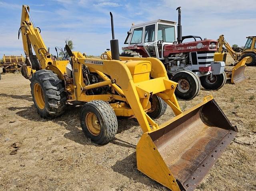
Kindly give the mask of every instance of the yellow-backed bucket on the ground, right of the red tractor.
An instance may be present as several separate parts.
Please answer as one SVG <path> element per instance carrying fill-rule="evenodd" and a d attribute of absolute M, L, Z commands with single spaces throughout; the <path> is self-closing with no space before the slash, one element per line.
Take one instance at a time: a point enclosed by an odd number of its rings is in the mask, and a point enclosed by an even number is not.
<path fill-rule="evenodd" d="M 232 70 L 225 70 L 227 77 L 231 78 L 231 83 L 236 84 L 246 79 L 244 75 L 244 69 L 246 68 L 246 60 L 248 57 L 244 57 L 240 60 Z"/>

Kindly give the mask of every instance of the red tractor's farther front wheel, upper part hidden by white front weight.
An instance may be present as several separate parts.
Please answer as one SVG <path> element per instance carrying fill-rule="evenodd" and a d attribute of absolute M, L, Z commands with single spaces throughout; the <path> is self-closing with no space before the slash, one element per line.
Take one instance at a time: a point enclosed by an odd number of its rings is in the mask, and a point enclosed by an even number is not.
<path fill-rule="evenodd" d="M 206 76 L 201 76 L 200 81 L 202 84 L 202 87 L 208 90 L 218 90 L 224 86 L 224 84 L 227 81 L 227 76 L 226 73 L 222 73 L 219 75 L 206 75 Z"/>

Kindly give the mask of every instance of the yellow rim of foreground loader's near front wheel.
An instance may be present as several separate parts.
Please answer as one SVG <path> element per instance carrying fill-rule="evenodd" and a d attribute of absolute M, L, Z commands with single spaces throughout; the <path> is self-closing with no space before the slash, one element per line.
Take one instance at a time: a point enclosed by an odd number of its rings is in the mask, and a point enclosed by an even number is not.
<path fill-rule="evenodd" d="M 94 113 L 89 112 L 88 114 L 86 114 L 85 122 L 86 122 L 86 127 L 91 134 L 95 136 L 100 134 L 100 123 L 97 116 Z"/>

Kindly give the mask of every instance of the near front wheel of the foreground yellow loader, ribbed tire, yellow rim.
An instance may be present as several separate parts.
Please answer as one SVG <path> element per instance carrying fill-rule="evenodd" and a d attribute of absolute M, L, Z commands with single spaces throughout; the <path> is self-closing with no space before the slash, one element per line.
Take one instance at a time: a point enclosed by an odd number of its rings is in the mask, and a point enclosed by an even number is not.
<path fill-rule="evenodd" d="M 113 108 L 102 100 L 90 101 L 82 107 L 80 123 L 84 134 L 96 144 L 106 144 L 116 135 L 118 123 Z"/>

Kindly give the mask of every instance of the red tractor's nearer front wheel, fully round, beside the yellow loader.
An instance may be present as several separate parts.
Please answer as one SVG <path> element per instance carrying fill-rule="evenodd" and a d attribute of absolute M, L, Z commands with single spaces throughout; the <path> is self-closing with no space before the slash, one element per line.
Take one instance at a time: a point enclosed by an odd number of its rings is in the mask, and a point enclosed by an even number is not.
<path fill-rule="evenodd" d="M 200 91 L 200 81 L 196 77 L 196 74 L 184 70 L 176 73 L 174 77 L 172 77 L 172 81 L 178 83 L 178 86 L 175 89 L 175 95 L 181 99 L 192 99 L 196 95 L 198 95 Z"/>

